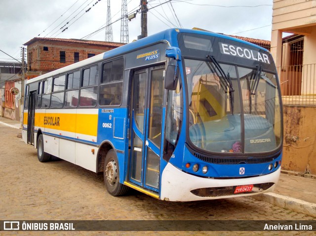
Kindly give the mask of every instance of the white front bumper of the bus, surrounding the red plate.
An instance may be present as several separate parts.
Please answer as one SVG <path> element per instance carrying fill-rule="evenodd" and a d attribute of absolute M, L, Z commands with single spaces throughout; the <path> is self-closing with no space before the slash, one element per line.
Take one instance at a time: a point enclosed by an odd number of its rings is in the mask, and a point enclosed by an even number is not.
<path fill-rule="evenodd" d="M 237 179 L 202 178 L 185 173 L 168 163 L 161 176 L 160 199 L 168 201 L 196 201 L 271 192 L 276 186 L 281 168 L 257 177 Z M 252 186 L 251 192 L 237 192 L 239 186 Z M 247 189 L 244 188 L 244 189 Z"/>

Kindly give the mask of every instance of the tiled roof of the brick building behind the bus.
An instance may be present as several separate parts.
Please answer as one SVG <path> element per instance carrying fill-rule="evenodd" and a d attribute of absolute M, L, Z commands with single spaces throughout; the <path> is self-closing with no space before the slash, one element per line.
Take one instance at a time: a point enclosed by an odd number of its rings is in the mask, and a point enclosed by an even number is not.
<path fill-rule="evenodd" d="M 58 41 L 58 42 L 66 42 L 66 43 L 82 43 L 82 44 L 88 44 L 88 45 L 96 45 L 96 46 L 107 46 L 107 47 L 119 47 L 126 43 L 121 42 L 105 42 L 105 41 L 96 41 L 96 40 L 84 40 L 84 39 L 56 39 L 56 38 L 33 38 L 24 45 L 30 45 L 34 42 L 44 42 L 44 41 Z"/>

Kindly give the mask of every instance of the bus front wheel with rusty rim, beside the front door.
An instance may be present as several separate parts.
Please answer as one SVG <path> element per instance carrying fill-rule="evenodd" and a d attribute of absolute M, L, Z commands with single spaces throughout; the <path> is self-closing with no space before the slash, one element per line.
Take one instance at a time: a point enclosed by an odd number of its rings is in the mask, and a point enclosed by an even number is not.
<path fill-rule="evenodd" d="M 122 196 L 128 192 L 129 187 L 119 183 L 118 157 L 113 149 L 105 157 L 103 176 L 105 187 L 112 196 Z"/>

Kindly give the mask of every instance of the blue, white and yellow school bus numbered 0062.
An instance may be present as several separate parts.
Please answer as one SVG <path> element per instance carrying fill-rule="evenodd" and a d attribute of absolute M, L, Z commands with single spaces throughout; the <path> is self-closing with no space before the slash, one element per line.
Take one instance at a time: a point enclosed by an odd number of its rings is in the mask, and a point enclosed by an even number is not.
<path fill-rule="evenodd" d="M 239 39 L 168 29 L 30 79 L 24 104 L 39 160 L 103 172 L 113 196 L 250 196 L 279 178 L 276 66 Z"/>

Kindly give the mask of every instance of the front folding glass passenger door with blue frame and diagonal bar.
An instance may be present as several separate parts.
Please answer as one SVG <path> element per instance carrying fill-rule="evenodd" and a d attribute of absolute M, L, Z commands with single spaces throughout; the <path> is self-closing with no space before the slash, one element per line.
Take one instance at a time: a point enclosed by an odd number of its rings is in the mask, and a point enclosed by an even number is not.
<path fill-rule="evenodd" d="M 159 192 L 164 66 L 133 75 L 129 181 Z"/>

